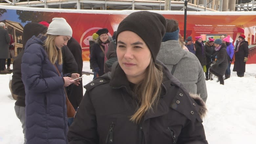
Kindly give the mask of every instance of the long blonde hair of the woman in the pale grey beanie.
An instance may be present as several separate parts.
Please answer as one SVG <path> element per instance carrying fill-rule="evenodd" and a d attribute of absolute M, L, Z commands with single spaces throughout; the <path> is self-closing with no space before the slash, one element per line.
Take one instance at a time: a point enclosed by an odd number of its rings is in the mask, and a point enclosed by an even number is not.
<path fill-rule="evenodd" d="M 45 40 L 46 53 L 48 54 L 49 60 L 52 64 L 58 60 L 58 64 L 62 64 L 62 52 L 57 50 L 55 46 L 54 39 L 57 35 L 48 34 L 47 39 Z"/>

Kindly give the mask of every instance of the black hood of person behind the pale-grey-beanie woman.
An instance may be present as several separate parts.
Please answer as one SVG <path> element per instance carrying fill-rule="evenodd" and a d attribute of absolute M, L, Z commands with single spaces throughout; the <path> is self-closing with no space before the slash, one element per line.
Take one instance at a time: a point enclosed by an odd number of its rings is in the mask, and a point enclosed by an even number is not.
<path fill-rule="evenodd" d="M 45 34 L 47 32 L 47 27 L 39 23 L 28 23 L 23 29 L 23 48 L 25 48 L 27 41 L 33 36 L 37 36 L 40 33 Z"/>

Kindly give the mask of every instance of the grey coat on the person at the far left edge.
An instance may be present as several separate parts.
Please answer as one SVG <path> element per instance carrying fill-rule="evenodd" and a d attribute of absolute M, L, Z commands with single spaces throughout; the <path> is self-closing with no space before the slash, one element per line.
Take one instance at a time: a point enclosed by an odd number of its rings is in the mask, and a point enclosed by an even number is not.
<path fill-rule="evenodd" d="M 10 36 L 8 31 L 0 27 L 0 59 L 7 59 L 9 54 Z"/>

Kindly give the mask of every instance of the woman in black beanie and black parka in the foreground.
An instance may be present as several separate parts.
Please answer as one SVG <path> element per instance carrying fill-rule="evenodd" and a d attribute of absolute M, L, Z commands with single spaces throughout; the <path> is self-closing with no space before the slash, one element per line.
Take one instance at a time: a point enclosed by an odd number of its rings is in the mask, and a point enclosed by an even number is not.
<path fill-rule="evenodd" d="M 118 62 L 85 86 L 69 144 L 207 144 L 202 107 L 156 59 L 165 29 L 165 18 L 148 11 L 119 24 Z"/>

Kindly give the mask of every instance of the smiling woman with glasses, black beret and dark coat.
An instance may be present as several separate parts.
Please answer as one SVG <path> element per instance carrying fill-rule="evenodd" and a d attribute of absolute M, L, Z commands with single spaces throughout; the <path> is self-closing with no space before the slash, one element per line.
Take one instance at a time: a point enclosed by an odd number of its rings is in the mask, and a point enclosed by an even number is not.
<path fill-rule="evenodd" d="M 104 74 L 104 63 L 107 60 L 105 51 L 108 51 L 108 45 L 110 42 L 108 29 L 99 29 L 96 33 L 99 35 L 99 37 L 92 46 L 90 58 L 90 63 L 94 70 L 93 79 Z"/>

